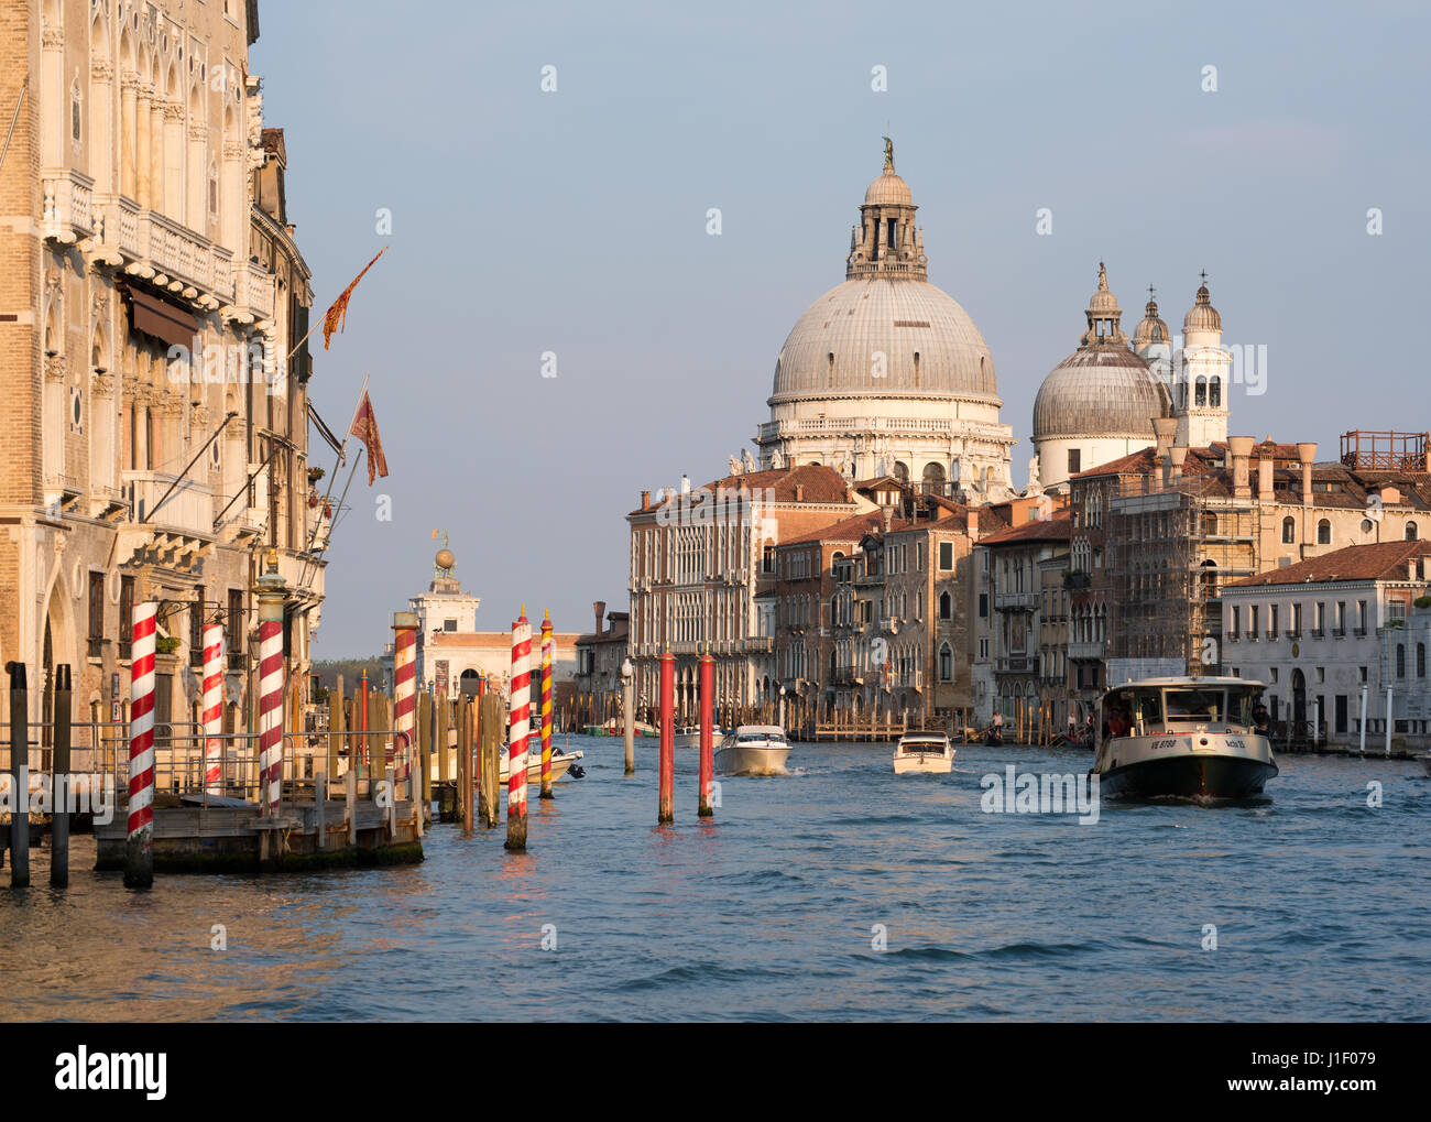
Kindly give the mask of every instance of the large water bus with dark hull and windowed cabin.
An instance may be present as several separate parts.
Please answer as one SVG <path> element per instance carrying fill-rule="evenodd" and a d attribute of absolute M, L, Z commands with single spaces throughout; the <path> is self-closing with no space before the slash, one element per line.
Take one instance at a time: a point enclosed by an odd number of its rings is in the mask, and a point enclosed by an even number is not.
<path fill-rule="evenodd" d="M 1262 683 L 1143 678 L 1108 690 L 1093 774 L 1106 794 L 1241 799 L 1276 776 Z"/>

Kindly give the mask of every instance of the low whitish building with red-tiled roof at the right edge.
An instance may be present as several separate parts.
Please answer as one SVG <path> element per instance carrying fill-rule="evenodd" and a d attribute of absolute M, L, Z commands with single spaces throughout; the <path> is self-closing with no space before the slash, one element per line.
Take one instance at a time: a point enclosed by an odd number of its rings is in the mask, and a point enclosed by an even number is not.
<path fill-rule="evenodd" d="M 1357 744 L 1367 694 L 1368 751 L 1392 733 L 1424 748 L 1431 731 L 1431 542 L 1348 545 L 1222 588 L 1224 661 L 1266 683 L 1274 721 L 1294 740 Z"/>

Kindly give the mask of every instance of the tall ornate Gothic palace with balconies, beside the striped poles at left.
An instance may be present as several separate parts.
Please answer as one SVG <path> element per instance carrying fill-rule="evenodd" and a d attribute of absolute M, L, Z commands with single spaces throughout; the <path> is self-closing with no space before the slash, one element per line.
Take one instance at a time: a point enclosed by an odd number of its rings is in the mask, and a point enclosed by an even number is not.
<path fill-rule="evenodd" d="M 197 718 L 222 621 L 228 723 L 276 552 L 286 681 L 306 688 L 326 508 L 311 485 L 308 266 L 265 129 L 255 3 L 43 0 L 0 33 L 0 653 L 47 717 L 126 713 L 133 605 L 162 601 L 156 718 Z M 29 83 L 21 93 L 20 77 Z M 19 112 L 16 112 L 19 110 Z M 0 706 L 7 698 L 0 700 Z M 47 736 L 47 733 L 44 734 Z"/>

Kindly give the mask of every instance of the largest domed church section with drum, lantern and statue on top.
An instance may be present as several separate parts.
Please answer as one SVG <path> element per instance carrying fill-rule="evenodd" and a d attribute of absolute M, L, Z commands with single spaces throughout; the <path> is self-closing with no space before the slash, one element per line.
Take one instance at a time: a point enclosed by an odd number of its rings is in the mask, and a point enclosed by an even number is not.
<path fill-rule="evenodd" d="M 1013 429 L 999 421 L 993 356 L 967 312 L 929 282 L 917 209 L 886 142 L 844 282 L 810 305 L 776 359 L 760 468 L 893 475 L 964 502 L 1010 494 Z"/>

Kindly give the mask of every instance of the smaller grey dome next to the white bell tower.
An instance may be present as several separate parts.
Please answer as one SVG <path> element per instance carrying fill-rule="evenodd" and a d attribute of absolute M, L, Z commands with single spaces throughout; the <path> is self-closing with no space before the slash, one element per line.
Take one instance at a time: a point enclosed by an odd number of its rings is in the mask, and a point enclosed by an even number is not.
<path fill-rule="evenodd" d="M 1152 439 L 1152 419 L 1171 414 L 1163 384 L 1126 346 L 1080 346 L 1039 386 L 1033 399 L 1033 439 Z"/>

